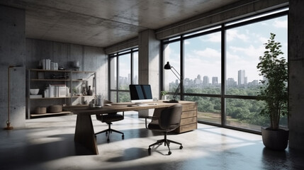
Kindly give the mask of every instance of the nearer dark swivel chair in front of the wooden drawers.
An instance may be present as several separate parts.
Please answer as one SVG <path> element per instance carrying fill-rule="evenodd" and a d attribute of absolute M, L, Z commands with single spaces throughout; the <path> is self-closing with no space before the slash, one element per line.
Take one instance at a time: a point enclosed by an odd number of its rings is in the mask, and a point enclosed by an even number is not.
<path fill-rule="evenodd" d="M 155 110 L 157 111 L 157 110 Z M 152 118 L 152 121 L 147 126 L 147 118 Z M 183 149 L 183 146 L 179 142 L 175 142 L 173 140 L 167 140 L 167 134 L 168 132 L 171 132 L 172 130 L 175 130 L 176 128 L 179 128 L 180 122 L 181 122 L 181 105 L 176 104 L 174 106 L 171 106 L 169 108 L 164 108 L 160 113 L 154 113 L 152 117 L 145 118 L 146 128 L 153 131 L 158 132 L 164 132 L 164 139 L 163 140 L 157 140 L 154 144 L 149 146 L 148 152 L 151 154 L 151 147 L 154 145 L 162 145 L 164 143 L 164 146 L 167 145 L 169 152 L 168 154 L 171 154 L 170 150 L 170 143 L 175 143 L 177 145 L 180 145 L 179 149 Z"/>

